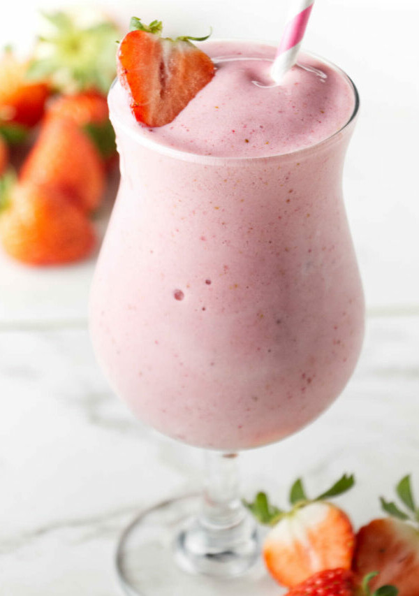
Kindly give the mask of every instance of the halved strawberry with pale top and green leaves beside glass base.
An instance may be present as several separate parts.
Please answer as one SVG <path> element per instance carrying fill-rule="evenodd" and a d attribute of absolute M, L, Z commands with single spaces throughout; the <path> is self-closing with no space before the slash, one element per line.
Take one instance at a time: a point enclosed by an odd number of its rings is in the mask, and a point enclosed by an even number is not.
<path fill-rule="evenodd" d="M 270 506 L 264 493 L 247 507 L 262 523 L 274 527 L 263 543 L 268 571 L 282 586 L 296 586 L 324 569 L 351 569 L 355 535 L 344 511 L 325 499 L 354 484 L 344 475 L 330 490 L 309 500 L 299 479 L 290 493 L 291 511 Z"/>

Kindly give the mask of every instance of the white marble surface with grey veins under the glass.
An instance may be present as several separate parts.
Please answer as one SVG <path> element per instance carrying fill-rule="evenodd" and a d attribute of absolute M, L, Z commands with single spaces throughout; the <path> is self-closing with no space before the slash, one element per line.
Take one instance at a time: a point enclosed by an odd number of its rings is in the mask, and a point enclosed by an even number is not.
<path fill-rule="evenodd" d="M 112 556 L 142 506 L 195 488 L 200 453 L 147 430 L 110 392 L 84 325 L 0 333 L 0 594 L 116 596 Z M 316 423 L 242 454 L 246 495 L 279 502 L 342 472 L 356 525 L 414 472 L 419 492 L 419 317 L 372 317 L 358 369 Z M 189 595 L 188 595 L 189 596 Z"/>

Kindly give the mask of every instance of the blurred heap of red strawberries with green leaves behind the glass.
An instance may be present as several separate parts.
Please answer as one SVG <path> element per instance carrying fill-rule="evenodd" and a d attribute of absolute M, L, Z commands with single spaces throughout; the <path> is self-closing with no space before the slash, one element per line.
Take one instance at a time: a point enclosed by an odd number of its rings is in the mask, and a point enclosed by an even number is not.
<path fill-rule="evenodd" d="M 116 163 L 106 95 L 120 31 L 98 13 L 44 16 L 32 55 L 19 62 L 7 48 L 0 63 L 0 173 L 6 143 L 22 142 L 38 125 L 19 182 L 10 184 L 9 172 L 0 186 L 0 240 L 10 256 L 33 265 L 91 253 L 87 215 L 100 206 Z"/>

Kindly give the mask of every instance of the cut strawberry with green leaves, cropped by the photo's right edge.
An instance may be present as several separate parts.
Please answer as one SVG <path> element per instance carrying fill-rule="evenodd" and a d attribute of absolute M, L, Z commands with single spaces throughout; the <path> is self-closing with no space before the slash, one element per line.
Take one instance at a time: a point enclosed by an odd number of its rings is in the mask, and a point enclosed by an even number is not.
<path fill-rule="evenodd" d="M 381 498 L 383 509 L 393 517 L 374 519 L 360 529 L 353 571 L 360 577 L 367 569 L 376 569 L 379 573 L 372 580 L 372 587 L 394 583 L 399 588 L 399 596 L 418 596 L 419 508 L 413 499 L 410 477 L 404 477 L 396 490 L 406 512 L 394 502 Z"/>

